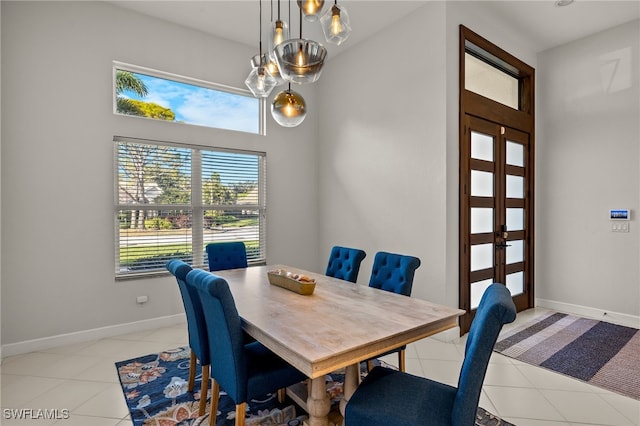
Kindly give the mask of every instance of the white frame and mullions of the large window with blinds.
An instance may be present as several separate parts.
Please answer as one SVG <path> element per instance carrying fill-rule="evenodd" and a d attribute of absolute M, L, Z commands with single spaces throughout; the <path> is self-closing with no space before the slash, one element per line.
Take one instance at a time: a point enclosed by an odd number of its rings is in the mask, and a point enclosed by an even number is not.
<path fill-rule="evenodd" d="M 120 200 L 120 175 L 119 175 L 119 146 L 122 143 L 130 143 L 130 144 L 138 144 L 138 145 L 150 145 L 157 147 L 168 147 L 168 148 L 177 148 L 190 150 L 189 154 L 189 169 L 190 169 L 190 201 L 189 203 L 175 203 L 175 204 L 161 204 L 161 203 L 148 203 L 148 204 L 127 204 L 122 203 Z M 167 142 L 167 141 L 157 141 L 150 139 L 142 139 L 142 138 L 133 138 L 133 137 L 125 137 L 125 136 L 114 136 L 113 137 L 113 149 L 114 149 L 114 273 L 116 280 L 128 280 L 128 279 L 139 279 L 139 278 L 147 278 L 154 277 L 160 275 L 168 274 L 167 270 L 164 268 L 164 264 L 162 267 L 152 268 L 148 271 L 126 271 L 123 270 L 120 264 L 120 251 L 121 251 L 121 232 L 120 232 L 120 219 L 119 215 L 121 211 L 127 210 L 182 210 L 189 212 L 189 218 L 191 223 L 191 237 L 190 237 L 190 247 L 191 247 L 191 258 L 190 262 L 195 268 L 205 268 L 208 269 L 208 262 L 206 258 L 205 246 L 206 244 L 212 242 L 211 240 L 207 240 L 205 242 L 205 231 L 204 231 L 204 217 L 206 211 L 211 210 L 233 210 L 230 207 L 236 207 L 238 204 L 205 204 L 203 200 L 203 187 L 205 186 L 205 178 L 202 172 L 202 157 L 203 153 L 212 153 L 212 155 L 216 154 L 239 154 L 239 155 L 249 155 L 256 156 L 257 159 L 257 191 L 258 198 L 257 204 L 249 204 L 247 205 L 247 210 L 257 210 L 258 211 L 258 249 L 257 256 L 252 255 L 251 253 L 255 253 L 256 250 L 247 250 L 248 254 L 248 263 L 249 265 L 264 265 L 266 264 L 266 246 L 267 246 L 267 237 L 266 237 L 266 220 L 267 220 L 267 204 L 266 204 L 266 163 L 267 163 L 267 155 L 266 152 L 260 151 L 249 151 L 249 150 L 240 150 L 240 149 L 230 149 L 230 148 L 220 148 L 220 147 L 210 147 L 210 146 L 200 146 L 194 144 L 185 144 L 178 142 Z M 207 154 L 205 154 L 206 156 Z M 200 161 L 198 161 L 200 160 Z M 214 240 L 215 242 L 215 240 Z M 156 243 L 157 246 L 161 246 L 160 242 Z M 174 258 L 174 257 L 171 257 Z M 175 258 L 181 258 L 180 256 L 175 256 Z M 166 259 L 168 260 L 168 258 Z M 182 260 L 185 260 L 182 258 Z"/>

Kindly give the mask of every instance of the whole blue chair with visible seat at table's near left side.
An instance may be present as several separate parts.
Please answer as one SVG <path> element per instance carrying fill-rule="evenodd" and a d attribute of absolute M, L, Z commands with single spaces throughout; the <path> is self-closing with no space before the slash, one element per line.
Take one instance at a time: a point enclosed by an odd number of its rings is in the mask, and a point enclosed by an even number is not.
<path fill-rule="evenodd" d="M 194 269 L 187 285 L 197 289 L 211 350 L 211 414 L 215 425 L 222 388 L 236 404 L 236 426 L 244 425 L 246 403 L 306 379 L 306 376 L 259 342 L 245 343 L 240 316 L 229 284 L 221 277 Z"/>

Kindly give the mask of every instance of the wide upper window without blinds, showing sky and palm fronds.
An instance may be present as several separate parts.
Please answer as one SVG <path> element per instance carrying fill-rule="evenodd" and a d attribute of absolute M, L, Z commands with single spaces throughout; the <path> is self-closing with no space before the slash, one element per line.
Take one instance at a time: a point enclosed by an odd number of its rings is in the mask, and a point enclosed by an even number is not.
<path fill-rule="evenodd" d="M 115 63 L 113 71 L 117 114 L 264 133 L 264 101 L 248 90 L 122 63 Z"/>

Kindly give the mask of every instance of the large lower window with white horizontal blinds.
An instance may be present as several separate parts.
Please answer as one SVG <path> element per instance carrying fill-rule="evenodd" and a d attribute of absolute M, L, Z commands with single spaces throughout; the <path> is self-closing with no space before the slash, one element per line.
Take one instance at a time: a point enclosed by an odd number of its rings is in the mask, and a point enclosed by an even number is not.
<path fill-rule="evenodd" d="M 205 247 L 242 241 L 264 263 L 265 153 L 115 137 L 116 277 L 207 265 Z"/>

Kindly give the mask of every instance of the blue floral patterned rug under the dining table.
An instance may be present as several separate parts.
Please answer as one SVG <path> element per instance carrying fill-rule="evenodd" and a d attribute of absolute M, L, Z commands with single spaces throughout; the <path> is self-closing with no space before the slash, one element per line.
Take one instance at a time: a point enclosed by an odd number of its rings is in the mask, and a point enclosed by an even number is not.
<path fill-rule="evenodd" d="M 207 404 L 206 414 L 198 417 L 201 396 L 199 375 L 196 377 L 194 392 L 187 391 L 189 356 L 189 348 L 181 347 L 116 362 L 122 392 L 134 426 L 205 426 L 209 424 L 209 404 Z M 376 360 L 374 364 L 384 363 Z M 199 365 L 198 371 L 200 371 Z M 338 404 L 342 397 L 344 375 L 341 373 L 338 371 L 326 376 L 327 392 L 333 404 Z M 361 376 L 366 376 L 364 363 Z M 235 408 L 231 398 L 221 391 L 216 426 L 234 425 Z M 245 424 L 247 426 L 298 426 L 302 425 L 306 419 L 306 413 L 291 401 L 286 400 L 280 404 L 275 394 L 268 394 L 247 403 Z M 393 421 L 389 424 L 393 425 Z M 511 423 L 479 408 L 476 425 L 509 426 Z"/>

